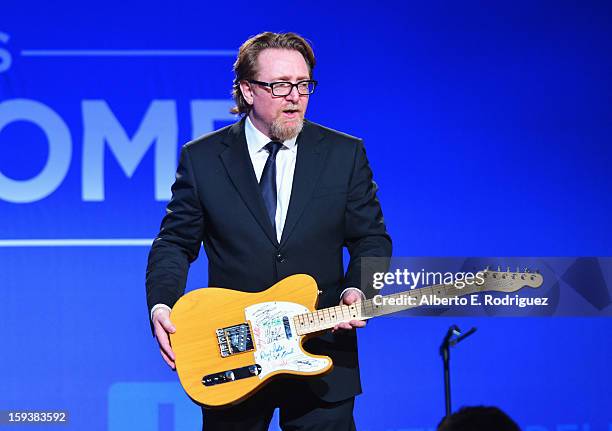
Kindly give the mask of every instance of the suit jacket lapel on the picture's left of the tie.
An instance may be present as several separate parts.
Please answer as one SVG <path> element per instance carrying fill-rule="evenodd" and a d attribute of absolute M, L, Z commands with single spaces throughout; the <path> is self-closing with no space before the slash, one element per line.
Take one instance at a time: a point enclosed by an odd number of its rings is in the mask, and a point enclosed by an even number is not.
<path fill-rule="evenodd" d="M 259 185 L 257 184 L 255 170 L 249 156 L 244 134 L 244 122 L 245 119 L 243 118 L 230 127 L 228 134 L 223 140 L 227 148 L 220 154 L 221 161 L 236 190 L 238 190 L 240 197 L 249 208 L 251 214 L 253 214 L 253 217 L 255 217 L 255 220 L 257 220 L 257 223 L 261 226 L 268 239 L 275 246 L 278 246 L 276 232 L 274 232 L 272 223 L 268 219 L 266 207 L 261 197 Z"/>

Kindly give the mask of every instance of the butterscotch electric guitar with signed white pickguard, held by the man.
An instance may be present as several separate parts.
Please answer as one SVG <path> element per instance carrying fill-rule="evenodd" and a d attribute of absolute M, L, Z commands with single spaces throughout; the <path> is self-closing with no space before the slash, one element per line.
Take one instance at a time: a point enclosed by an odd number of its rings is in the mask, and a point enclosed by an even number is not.
<path fill-rule="evenodd" d="M 481 273 L 480 282 L 475 279 L 462 288 L 440 284 L 321 310 L 316 309 L 317 284 L 305 274 L 287 277 L 258 293 L 215 287 L 191 291 L 178 300 L 170 316 L 176 327 L 170 341 L 179 380 L 189 397 L 205 407 L 237 404 L 273 377 L 331 371 L 329 357 L 306 352 L 302 343 L 339 322 L 413 308 L 425 296 L 514 292 L 543 282 L 539 273 L 488 269 Z"/>

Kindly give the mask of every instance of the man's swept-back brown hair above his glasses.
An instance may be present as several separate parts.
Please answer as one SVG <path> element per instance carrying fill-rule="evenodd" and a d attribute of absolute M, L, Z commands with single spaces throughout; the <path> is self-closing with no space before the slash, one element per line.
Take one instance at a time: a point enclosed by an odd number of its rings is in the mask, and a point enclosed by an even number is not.
<path fill-rule="evenodd" d="M 251 110 L 240 90 L 240 81 L 254 79 L 257 73 L 257 58 L 264 49 L 292 49 L 298 51 L 304 57 L 308 65 L 310 78 L 315 66 L 314 52 L 310 44 L 302 36 L 296 33 L 272 33 L 264 32 L 251 37 L 244 42 L 238 51 L 238 58 L 234 63 L 234 85 L 232 96 L 236 106 L 231 109 L 234 114 L 247 114 Z"/>

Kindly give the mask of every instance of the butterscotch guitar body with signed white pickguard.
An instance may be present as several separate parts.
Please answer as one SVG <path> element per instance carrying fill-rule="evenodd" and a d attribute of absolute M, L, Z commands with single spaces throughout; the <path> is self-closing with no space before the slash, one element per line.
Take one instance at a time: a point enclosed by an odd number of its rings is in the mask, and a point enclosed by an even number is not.
<path fill-rule="evenodd" d="M 181 297 L 172 308 L 170 341 L 187 394 L 205 407 L 221 407 L 276 376 L 330 371 L 329 357 L 304 351 L 294 322 L 314 311 L 317 299 L 317 284 L 305 274 L 258 293 L 209 287 Z"/>

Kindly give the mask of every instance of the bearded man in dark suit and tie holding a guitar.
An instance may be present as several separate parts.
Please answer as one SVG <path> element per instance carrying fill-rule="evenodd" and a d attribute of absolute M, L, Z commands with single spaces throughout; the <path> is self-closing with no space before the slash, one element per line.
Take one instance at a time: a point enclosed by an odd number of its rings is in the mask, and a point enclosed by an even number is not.
<path fill-rule="evenodd" d="M 183 147 L 147 268 L 153 331 L 172 368 L 169 310 L 200 244 L 211 286 L 257 292 L 305 273 L 317 281 L 320 308 L 374 293 L 361 284 L 360 262 L 390 256 L 391 240 L 362 141 L 304 120 L 314 66 L 312 48 L 294 33 L 247 40 L 234 64 L 242 119 Z M 351 256 L 346 274 L 343 247 Z M 205 429 L 267 429 L 275 407 L 285 429 L 354 429 L 361 384 L 353 329 L 362 326 L 343 322 L 306 343 L 332 358 L 331 373 L 279 379 L 237 406 L 206 410 Z"/>

